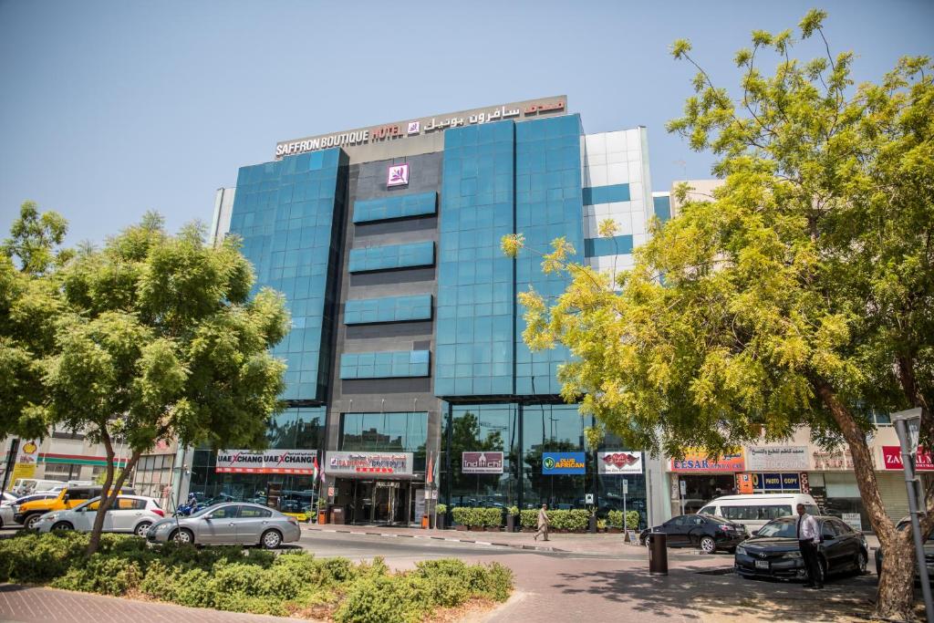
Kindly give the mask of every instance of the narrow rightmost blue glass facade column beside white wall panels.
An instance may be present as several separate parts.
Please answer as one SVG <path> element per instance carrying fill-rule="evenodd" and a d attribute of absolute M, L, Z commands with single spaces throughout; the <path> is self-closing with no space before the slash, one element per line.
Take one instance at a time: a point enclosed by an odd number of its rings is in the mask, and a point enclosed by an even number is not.
<path fill-rule="evenodd" d="M 580 117 L 567 115 L 528 121 L 516 126 L 516 232 L 525 235 L 527 248 L 549 251 L 551 241 L 564 237 L 574 253 L 569 262 L 584 259 L 581 189 Z M 516 290 L 530 288 L 556 297 L 568 284 L 563 274 L 542 273 L 542 259 L 534 252 L 521 253 L 516 260 Z M 568 361 L 565 347 L 533 353 L 522 341 L 525 320 L 521 310 L 515 317 L 516 391 L 530 396 L 558 394 L 558 366 Z"/>

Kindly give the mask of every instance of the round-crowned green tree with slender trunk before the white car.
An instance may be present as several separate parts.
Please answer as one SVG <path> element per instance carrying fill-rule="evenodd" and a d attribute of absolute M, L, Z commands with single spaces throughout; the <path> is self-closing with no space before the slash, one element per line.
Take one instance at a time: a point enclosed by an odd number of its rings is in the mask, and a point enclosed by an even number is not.
<path fill-rule="evenodd" d="M 27 411 L 44 430 L 80 430 L 106 452 L 89 553 L 142 454 L 174 439 L 260 448 L 282 408 L 285 364 L 269 348 L 289 329 L 284 299 L 250 296 L 253 270 L 236 238 L 217 247 L 204 238 L 196 225 L 166 234 L 149 214 L 104 248 L 32 276 L 50 299 L 35 317 L 48 335 L 30 353 L 41 378 Z M 118 436 L 129 457 L 115 474 Z"/>

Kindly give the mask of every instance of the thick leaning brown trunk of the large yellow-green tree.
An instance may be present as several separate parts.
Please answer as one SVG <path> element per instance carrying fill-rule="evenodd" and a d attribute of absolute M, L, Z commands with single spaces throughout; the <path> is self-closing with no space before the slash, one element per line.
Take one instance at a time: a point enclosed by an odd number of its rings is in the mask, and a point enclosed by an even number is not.
<path fill-rule="evenodd" d="M 870 518 L 870 525 L 879 537 L 879 544 L 884 551 L 882 576 L 879 578 L 873 615 L 884 619 L 911 620 L 909 616 L 914 601 L 914 546 L 911 531 L 896 531 L 892 520 L 885 515 L 879 484 L 872 466 L 870 446 L 866 441 L 866 434 L 856 424 L 856 418 L 853 418 L 846 406 L 840 402 L 828 382 L 815 380 L 814 389 L 828 407 L 846 445 L 850 448 L 859 495 Z"/>

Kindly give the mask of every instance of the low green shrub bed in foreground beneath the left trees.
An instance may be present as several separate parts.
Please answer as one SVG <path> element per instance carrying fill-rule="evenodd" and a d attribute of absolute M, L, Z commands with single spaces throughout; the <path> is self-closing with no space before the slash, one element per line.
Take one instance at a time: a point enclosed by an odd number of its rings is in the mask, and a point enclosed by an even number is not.
<path fill-rule="evenodd" d="M 513 586 L 512 572 L 498 563 L 430 560 L 411 572 L 390 573 L 382 559 L 354 564 L 316 559 L 304 550 L 276 555 L 171 543 L 149 548 L 141 539 L 115 534 L 103 535 L 99 552 L 86 558 L 88 537 L 21 532 L 0 541 L 0 582 L 118 596 L 133 591 L 181 605 L 278 616 L 317 607 L 337 623 L 421 621 L 436 608 L 474 598 L 502 602 Z"/>

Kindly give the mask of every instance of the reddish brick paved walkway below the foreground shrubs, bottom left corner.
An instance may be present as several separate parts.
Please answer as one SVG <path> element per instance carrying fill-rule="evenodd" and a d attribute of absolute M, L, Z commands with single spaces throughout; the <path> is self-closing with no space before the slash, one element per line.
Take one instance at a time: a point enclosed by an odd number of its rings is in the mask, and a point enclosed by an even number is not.
<path fill-rule="evenodd" d="M 239 615 L 170 603 L 136 602 L 55 588 L 0 585 L 0 621 L 14 623 L 287 623 L 297 620 L 300 619 Z"/>

